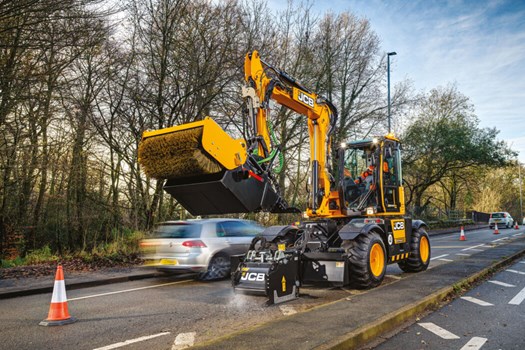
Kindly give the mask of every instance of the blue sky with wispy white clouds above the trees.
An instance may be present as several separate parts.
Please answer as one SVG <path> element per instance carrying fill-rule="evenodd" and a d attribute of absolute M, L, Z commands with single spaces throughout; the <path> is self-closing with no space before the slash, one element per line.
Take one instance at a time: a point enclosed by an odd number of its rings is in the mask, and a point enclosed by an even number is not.
<path fill-rule="evenodd" d="M 428 91 L 455 83 L 480 126 L 500 130 L 525 163 L 525 0 L 317 0 L 314 9 L 368 18 L 382 49 L 397 52 L 392 85 L 410 79 Z"/>

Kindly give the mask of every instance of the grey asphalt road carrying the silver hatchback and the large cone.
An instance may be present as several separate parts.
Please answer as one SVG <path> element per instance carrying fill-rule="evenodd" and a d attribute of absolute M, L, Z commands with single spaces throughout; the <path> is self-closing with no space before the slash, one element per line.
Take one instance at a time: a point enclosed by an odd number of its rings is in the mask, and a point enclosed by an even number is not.
<path fill-rule="evenodd" d="M 500 235 L 488 229 L 467 232 L 467 241 L 459 241 L 459 233 L 431 237 L 430 267 L 462 264 L 471 254 L 519 239 L 516 235 L 523 239 L 523 229 L 501 230 Z M 390 265 L 385 283 L 409 276 Z M 47 316 L 50 295 L 19 297 L 0 302 L 0 349 L 111 349 L 125 345 L 126 349 L 176 350 L 356 293 L 367 292 L 303 288 L 299 300 L 267 306 L 262 297 L 234 295 L 228 280 L 155 278 L 68 291 L 70 313 L 79 321 L 62 327 L 38 326 Z"/>

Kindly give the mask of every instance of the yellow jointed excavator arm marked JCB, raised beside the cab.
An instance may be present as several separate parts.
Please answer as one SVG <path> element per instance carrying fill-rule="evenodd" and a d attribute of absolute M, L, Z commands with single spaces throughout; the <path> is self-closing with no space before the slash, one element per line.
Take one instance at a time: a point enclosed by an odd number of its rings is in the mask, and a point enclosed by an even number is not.
<path fill-rule="evenodd" d="M 326 217 L 337 215 L 330 206 L 333 176 L 330 173 L 331 134 L 335 129 L 337 110 L 327 99 L 311 92 L 283 71 L 264 62 L 257 51 L 248 53 L 244 61 L 243 97 L 247 101 L 248 125 L 257 142 L 258 154 L 268 157 L 272 149 L 268 118 L 269 100 L 307 117 L 310 138 L 311 192 L 307 215 Z M 337 204 L 335 208 L 338 208 Z M 332 208 L 332 210 L 330 210 Z"/>

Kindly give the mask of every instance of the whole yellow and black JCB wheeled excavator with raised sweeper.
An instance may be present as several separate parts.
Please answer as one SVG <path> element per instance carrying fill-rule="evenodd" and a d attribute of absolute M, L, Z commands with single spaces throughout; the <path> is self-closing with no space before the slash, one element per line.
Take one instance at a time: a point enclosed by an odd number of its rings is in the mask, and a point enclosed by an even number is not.
<path fill-rule="evenodd" d="M 268 227 L 247 254 L 233 257 L 235 291 L 280 303 L 296 298 L 305 283 L 375 287 L 391 263 L 407 272 L 425 270 L 430 241 L 426 224 L 405 216 L 399 140 L 389 134 L 332 152 L 337 110 L 329 100 L 264 62 L 257 51 L 246 55 L 244 71 L 243 139 L 206 118 L 146 131 L 139 145 L 144 172 L 165 179 L 164 189 L 193 215 L 299 212 L 282 198 L 272 171 L 281 150 L 270 99 L 306 117 L 308 220 Z"/>

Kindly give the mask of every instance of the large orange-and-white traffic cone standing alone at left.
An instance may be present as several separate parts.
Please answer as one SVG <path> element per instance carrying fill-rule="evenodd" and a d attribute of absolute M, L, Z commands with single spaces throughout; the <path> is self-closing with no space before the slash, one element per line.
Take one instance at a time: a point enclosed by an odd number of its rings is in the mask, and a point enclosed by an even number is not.
<path fill-rule="evenodd" d="M 69 315 L 69 311 L 67 310 L 64 272 L 62 271 L 62 265 L 58 265 L 49 313 L 47 315 L 47 319 L 40 322 L 39 324 L 41 326 L 62 326 L 64 324 L 76 322 L 76 320 L 76 318 Z"/>

